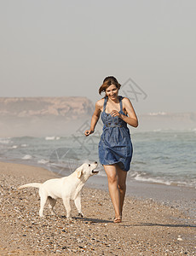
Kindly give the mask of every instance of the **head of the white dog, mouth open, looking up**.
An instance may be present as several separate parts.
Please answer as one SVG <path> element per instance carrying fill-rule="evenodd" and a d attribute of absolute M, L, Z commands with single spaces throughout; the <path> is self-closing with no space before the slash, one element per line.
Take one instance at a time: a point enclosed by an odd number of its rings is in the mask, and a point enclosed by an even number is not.
<path fill-rule="evenodd" d="M 84 177 L 85 180 L 87 180 L 90 176 L 97 174 L 99 171 L 95 171 L 95 168 L 98 166 L 97 162 L 94 162 L 92 164 L 83 164 L 82 166 L 78 167 L 77 171 L 77 177 L 81 178 Z"/>

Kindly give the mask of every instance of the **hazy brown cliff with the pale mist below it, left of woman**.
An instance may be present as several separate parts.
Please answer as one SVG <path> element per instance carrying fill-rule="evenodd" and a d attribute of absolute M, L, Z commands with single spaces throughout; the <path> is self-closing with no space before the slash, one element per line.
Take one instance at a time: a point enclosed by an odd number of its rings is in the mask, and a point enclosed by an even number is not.
<path fill-rule="evenodd" d="M 86 97 L 2 97 L 0 137 L 70 135 L 94 108 Z"/>

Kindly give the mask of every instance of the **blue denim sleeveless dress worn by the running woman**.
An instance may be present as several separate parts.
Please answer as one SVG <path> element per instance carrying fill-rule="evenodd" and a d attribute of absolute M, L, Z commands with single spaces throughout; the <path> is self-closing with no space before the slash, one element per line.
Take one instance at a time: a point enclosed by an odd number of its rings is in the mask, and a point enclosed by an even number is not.
<path fill-rule="evenodd" d="M 120 111 L 123 112 L 123 96 L 118 96 Z M 105 97 L 101 119 L 103 122 L 103 131 L 99 143 L 99 158 L 101 165 L 117 164 L 124 171 L 130 170 L 130 161 L 132 159 L 133 148 L 130 139 L 130 130 L 127 123 L 118 116 L 112 117 L 106 113 L 108 98 Z M 124 114 L 125 115 L 125 114 Z"/>

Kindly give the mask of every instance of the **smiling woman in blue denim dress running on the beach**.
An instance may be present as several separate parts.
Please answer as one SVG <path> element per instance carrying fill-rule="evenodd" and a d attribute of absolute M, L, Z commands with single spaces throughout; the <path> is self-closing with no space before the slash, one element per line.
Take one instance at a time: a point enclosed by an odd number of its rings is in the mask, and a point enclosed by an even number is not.
<path fill-rule="evenodd" d="M 90 128 L 85 131 L 85 136 L 89 136 L 95 131 L 95 125 L 101 114 L 104 126 L 99 143 L 99 157 L 101 165 L 104 166 L 107 173 L 109 194 L 115 211 L 114 223 L 122 221 L 126 177 L 130 170 L 133 152 L 127 124 L 138 126 L 138 120 L 130 100 L 118 96 L 120 86 L 114 77 L 104 79 L 99 93 L 105 92 L 106 95 L 95 103 L 95 112 Z"/>

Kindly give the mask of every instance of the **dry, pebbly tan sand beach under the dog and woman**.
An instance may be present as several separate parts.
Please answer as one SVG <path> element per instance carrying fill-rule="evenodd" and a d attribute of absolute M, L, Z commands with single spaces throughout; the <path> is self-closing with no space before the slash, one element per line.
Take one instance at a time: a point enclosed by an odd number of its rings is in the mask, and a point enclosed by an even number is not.
<path fill-rule="evenodd" d="M 17 187 L 57 175 L 41 167 L 3 162 L 0 170 L 0 255 L 196 255 L 195 222 L 179 207 L 129 194 L 123 222 L 113 224 L 107 191 L 84 186 L 84 218 L 77 217 L 73 206 L 76 218 L 66 220 L 61 200 L 56 216 L 45 207 L 45 217 L 39 218 L 37 189 Z"/>

